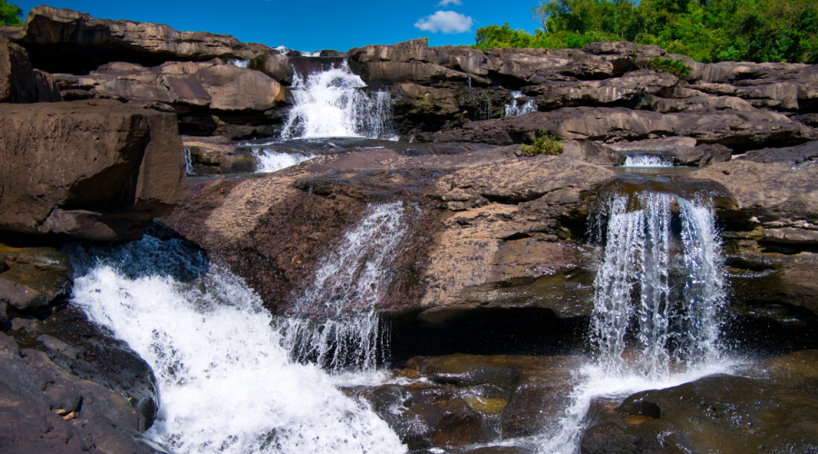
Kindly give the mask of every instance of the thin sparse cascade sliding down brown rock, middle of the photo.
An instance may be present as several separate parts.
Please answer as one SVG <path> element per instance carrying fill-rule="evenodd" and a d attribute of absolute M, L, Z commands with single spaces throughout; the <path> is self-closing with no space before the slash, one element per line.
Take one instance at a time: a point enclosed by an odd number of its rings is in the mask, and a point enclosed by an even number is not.
<path fill-rule="evenodd" d="M 314 281 L 298 296 L 295 312 L 312 319 L 282 324 L 284 346 L 295 360 L 328 370 L 373 370 L 384 363 L 387 327 L 376 305 L 389 286 L 389 264 L 406 235 L 403 202 L 370 206 L 343 242 L 324 257 Z"/>

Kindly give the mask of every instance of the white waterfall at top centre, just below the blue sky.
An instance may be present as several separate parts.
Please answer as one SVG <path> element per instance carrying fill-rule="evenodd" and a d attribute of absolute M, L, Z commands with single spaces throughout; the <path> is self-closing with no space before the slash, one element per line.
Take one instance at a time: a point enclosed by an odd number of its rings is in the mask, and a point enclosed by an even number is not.
<path fill-rule="evenodd" d="M 290 109 L 284 139 L 321 137 L 387 138 L 392 135 L 392 97 L 388 92 L 366 93 L 366 85 L 349 65 L 310 74 L 296 74 L 295 104 Z"/>

